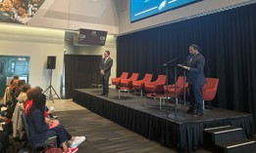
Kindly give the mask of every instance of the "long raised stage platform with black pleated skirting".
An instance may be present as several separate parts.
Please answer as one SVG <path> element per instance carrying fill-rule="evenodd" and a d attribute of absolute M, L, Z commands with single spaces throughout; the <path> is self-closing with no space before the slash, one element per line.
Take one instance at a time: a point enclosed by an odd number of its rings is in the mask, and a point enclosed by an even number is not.
<path fill-rule="evenodd" d="M 231 125 L 242 128 L 247 138 L 254 134 L 251 114 L 213 108 L 205 110 L 202 117 L 192 117 L 179 111 L 176 118 L 174 110 L 168 111 L 167 115 L 166 109 L 159 109 L 159 99 L 135 96 L 134 93 L 122 95 L 119 99 L 116 90 L 111 90 L 109 96 L 99 96 L 100 93 L 99 89 L 76 89 L 73 100 L 134 133 L 178 152 L 191 152 L 202 147 L 206 128 Z M 145 107 L 145 101 L 153 107 Z"/>

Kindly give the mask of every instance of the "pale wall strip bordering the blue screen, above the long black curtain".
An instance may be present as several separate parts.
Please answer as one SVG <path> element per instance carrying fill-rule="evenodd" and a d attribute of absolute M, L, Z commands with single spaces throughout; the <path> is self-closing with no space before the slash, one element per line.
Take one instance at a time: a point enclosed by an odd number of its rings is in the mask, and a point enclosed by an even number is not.
<path fill-rule="evenodd" d="M 128 0 L 128 4 L 129 4 Z M 234 4 L 246 2 L 250 0 L 203 0 L 198 3 L 194 3 L 189 6 L 179 8 L 177 10 L 169 11 L 158 16 L 154 16 L 148 19 L 142 19 L 133 23 L 130 23 L 129 19 L 129 6 L 128 10 L 121 13 L 119 16 L 119 33 L 125 34 L 132 31 L 137 31 L 149 27 L 153 27 L 159 24 L 171 22 L 172 20 L 182 19 L 185 17 L 205 13 L 208 11 L 224 8 Z"/>

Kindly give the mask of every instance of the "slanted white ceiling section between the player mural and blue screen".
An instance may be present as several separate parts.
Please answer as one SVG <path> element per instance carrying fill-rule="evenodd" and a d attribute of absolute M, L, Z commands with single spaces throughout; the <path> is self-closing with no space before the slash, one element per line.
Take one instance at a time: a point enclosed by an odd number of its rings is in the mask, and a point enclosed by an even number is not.
<path fill-rule="evenodd" d="M 45 0 L 28 25 L 118 34 L 119 14 L 127 9 L 128 0 Z"/>

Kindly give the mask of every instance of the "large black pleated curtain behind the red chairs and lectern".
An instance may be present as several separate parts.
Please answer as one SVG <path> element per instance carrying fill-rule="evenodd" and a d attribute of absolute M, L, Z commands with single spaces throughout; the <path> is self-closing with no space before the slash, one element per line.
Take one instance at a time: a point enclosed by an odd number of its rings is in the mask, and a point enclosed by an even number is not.
<path fill-rule="evenodd" d="M 219 78 L 213 105 L 248 112 L 256 119 L 256 4 L 155 27 L 117 39 L 117 74 L 164 73 L 166 61 L 188 56 L 198 44 L 206 58 L 206 77 Z M 173 67 L 171 76 L 174 76 Z M 182 73 L 179 70 L 179 75 Z M 172 79 L 172 77 L 171 77 Z"/>

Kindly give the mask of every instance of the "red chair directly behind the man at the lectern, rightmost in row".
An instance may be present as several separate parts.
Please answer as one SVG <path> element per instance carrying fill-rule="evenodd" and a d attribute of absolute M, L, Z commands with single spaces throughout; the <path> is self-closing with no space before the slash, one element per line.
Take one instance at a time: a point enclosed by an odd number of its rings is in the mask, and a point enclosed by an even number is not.
<path fill-rule="evenodd" d="M 205 100 L 213 100 L 216 96 L 218 89 L 219 79 L 217 78 L 206 78 L 206 84 L 203 86 L 203 109 Z"/>

